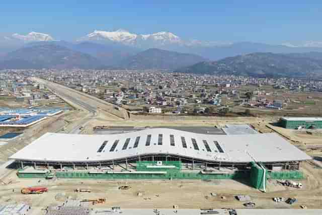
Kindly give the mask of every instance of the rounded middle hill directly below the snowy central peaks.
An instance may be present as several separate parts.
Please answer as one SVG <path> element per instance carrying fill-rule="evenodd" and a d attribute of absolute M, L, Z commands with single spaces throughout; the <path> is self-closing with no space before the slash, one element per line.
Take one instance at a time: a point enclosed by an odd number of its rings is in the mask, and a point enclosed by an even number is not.
<path fill-rule="evenodd" d="M 119 67 L 128 69 L 175 69 L 205 60 L 204 57 L 150 48 L 122 60 Z"/>

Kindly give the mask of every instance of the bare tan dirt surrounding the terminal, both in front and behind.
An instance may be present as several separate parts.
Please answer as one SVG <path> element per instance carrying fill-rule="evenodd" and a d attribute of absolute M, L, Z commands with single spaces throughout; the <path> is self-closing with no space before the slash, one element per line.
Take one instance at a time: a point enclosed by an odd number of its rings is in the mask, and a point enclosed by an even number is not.
<path fill-rule="evenodd" d="M 276 116 L 263 117 L 173 117 L 173 116 L 133 116 L 124 120 L 116 118 L 106 110 L 99 108 L 97 114 L 92 114 L 81 106 L 67 101 L 75 110 L 50 117 L 24 131 L 24 136 L 12 140 L 0 147 L 0 162 L 7 161 L 12 154 L 30 144 L 45 132 L 93 133 L 93 127 L 107 126 L 224 126 L 225 124 L 251 124 L 259 132 L 277 132 L 292 144 L 307 152 L 312 157 L 322 158 L 322 141 L 319 135 L 294 132 L 271 125 L 276 122 Z M 103 105 L 103 104 L 98 104 Z M 63 129 L 62 129 L 63 128 Z M 313 149 L 312 149 L 313 148 Z M 316 149 L 315 149 L 316 148 Z M 312 162 L 304 162 L 300 169 L 306 179 L 303 180 L 303 189 L 288 188 L 277 185 L 275 181 L 268 182 L 267 193 L 251 188 L 243 182 L 233 180 L 213 181 L 98 181 L 57 179 L 47 181 L 39 179 L 19 179 L 16 171 L 8 171 L 3 181 L 12 181 L 9 185 L 0 185 L 0 204 L 10 202 L 26 202 L 37 208 L 44 208 L 52 204 L 61 204 L 67 196 L 72 198 L 107 198 L 107 202 L 95 207 L 121 206 L 122 208 L 171 208 L 174 204 L 180 208 L 200 207 L 234 207 L 243 208 L 243 202 L 234 199 L 237 194 L 249 194 L 256 208 L 299 208 L 304 204 L 308 208 L 322 208 L 322 169 Z M 1 184 L 1 183 L 0 183 Z M 130 190 L 118 190 L 119 185 L 128 184 Z M 28 186 L 48 186 L 49 192 L 41 195 L 23 195 L 21 188 Z M 179 186 L 181 188 L 179 188 Z M 76 188 L 90 188 L 92 193 L 74 193 Z M 13 192 L 14 189 L 14 192 Z M 142 195 L 138 196 L 137 193 Z M 216 194 L 211 197 L 210 193 Z M 64 197 L 55 198 L 57 194 Z M 222 199 L 221 196 L 225 196 Z M 276 203 L 273 197 L 296 197 L 298 203 L 288 205 L 284 202 Z M 43 212 L 39 209 L 39 214 Z M 37 213 L 34 213 L 37 214 Z"/>

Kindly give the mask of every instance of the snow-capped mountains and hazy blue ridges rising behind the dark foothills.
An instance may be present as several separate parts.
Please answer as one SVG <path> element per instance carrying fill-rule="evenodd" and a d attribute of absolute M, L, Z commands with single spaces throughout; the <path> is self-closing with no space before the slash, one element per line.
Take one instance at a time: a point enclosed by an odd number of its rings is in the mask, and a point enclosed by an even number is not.
<path fill-rule="evenodd" d="M 43 41 L 64 42 L 55 40 L 55 38 L 49 34 L 37 32 L 31 32 L 26 35 L 18 33 L 12 35 L 0 35 L 0 56 L 4 55 L 4 53 L 8 53 L 9 51 L 21 48 L 27 43 Z M 123 29 L 119 29 L 117 31 L 95 30 L 92 33 L 81 36 L 68 43 L 77 45 L 83 44 L 84 42 L 90 42 L 93 46 L 96 46 L 95 44 L 105 45 L 106 48 L 113 50 L 107 51 L 107 54 L 102 53 L 101 51 L 100 53 L 94 54 L 96 55 L 95 57 L 99 58 L 101 55 L 103 57 L 104 55 L 107 55 L 111 58 L 111 61 L 119 61 L 124 57 L 124 55 L 134 55 L 139 51 L 149 48 L 192 53 L 210 60 L 218 60 L 225 57 L 254 52 L 322 52 L 322 42 L 318 41 L 308 41 L 301 44 L 286 42 L 283 43 L 283 45 L 270 45 L 254 42 L 203 41 L 195 39 L 186 40 L 167 31 L 151 34 L 136 34 Z M 66 47 L 70 48 L 70 46 Z M 89 54 L 93 54 L 93 51 Z M 108 62 L 108 64 L 113 64 L 113 62 Z"/>

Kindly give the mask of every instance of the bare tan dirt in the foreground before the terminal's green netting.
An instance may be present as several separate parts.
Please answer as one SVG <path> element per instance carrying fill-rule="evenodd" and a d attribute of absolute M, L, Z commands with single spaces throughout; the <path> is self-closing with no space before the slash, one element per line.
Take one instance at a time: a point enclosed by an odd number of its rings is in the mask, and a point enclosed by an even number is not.
<path fill-rule="evenodd" d="M 95 207 L 121 206 L 122 208 L 180 208 L 201 207 L 233 207 L 243 208 L 243 202 L 237 201 L 235 195 L 250 195 L 256 208 L 322 208 L 322 170 L 314 168 L 310 163 L 302 163 L 301 170 L 306 179 L 302 181 L 303 189 L 289 188 L 278 185 L 276 181 L 269 181 L 267 193 L 254 189 L 244 182 L 233 180 L 141 180 L 141 181 L 100 181 L 79 179 L 19 179 L 12 172 L 8 178 L 12 184 L 0 186 L 0 204 L 8 202 L 26 202 L 36 207 L 59 205 L 68 196 L 75 199 L 104 197 L 107 202 Z M 119 190 L 121 185 L 129 185 L 129 190 Z M 48 193 L 39 195 L 23 195 L 22 187 L 47 186 Z M 229 189 L 227 189 L 229 187 Z M 76 188 L 91 189 L 91 193 L 75 193 Z M 14 192 L 13 192 L 14 189 Z M 138 195 L 141 193 L 142 195 Z M 210 193 L 214 195 L 211 196 Z M 59 198 L 57 198 L 59 196 Z M 221 197 L 225 196 L 225 199 Z M 295 197 L 298 202 L 294 205 L 285 202 L 274 202 L 273 197 Z"/>

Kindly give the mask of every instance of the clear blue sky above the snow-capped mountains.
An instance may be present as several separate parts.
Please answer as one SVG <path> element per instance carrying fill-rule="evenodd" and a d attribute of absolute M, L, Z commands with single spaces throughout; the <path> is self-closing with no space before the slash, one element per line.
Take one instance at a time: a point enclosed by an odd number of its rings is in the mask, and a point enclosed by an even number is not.
<path fill-rule="evenodd" d="M 184 39 L 213 41 L 322 41 L 321 0 L 5 2 L 0 4 L 1 33 L 36 31 L 73 40 L 95 29 L 122 28 L 138 34 L 170 31 Z"/>

